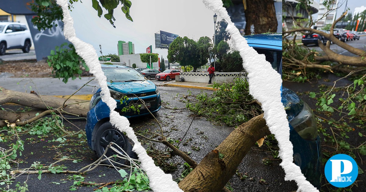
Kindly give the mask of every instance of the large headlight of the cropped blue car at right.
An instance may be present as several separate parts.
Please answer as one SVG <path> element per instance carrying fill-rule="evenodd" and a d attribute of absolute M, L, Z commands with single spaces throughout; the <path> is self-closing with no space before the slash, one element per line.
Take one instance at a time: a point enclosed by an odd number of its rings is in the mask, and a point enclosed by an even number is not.
<path fill-rule="evenodd" d="M 290 121 L 295 131 L 305 140 L 315 140 L 318 137 L 317 123 L 309 105 L 304 102 L 301 112 Z"/>

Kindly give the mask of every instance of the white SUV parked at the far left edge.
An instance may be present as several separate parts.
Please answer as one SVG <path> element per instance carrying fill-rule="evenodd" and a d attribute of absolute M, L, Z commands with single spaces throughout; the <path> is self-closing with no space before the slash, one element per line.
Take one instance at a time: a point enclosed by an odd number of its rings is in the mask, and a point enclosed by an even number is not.
<path fill-rule="evenodd" d="M 31 35 L 27 26 L 22 23 L 0 22 L 0 55 L 7 49 L 22 49 L 28 53 L 31 46 Z"/>

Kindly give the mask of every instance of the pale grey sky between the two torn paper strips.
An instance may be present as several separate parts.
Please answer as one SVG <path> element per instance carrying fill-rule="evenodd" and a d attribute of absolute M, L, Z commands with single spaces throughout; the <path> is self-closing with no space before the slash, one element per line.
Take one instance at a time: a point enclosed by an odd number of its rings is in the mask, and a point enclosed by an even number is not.
<path fill-rule="evenodd" d="M 162 30 L 187 36 L 198 40 L 199 37 L 212 38 L 214 33 L 214 12 L 205 7 L 199 0 L 131 0 L 131 17 L 134 22 L 127 20 L 120 5 L 115 9 L 115 26 L 91 7 L 91 1 L 75 3 L 71 16 L 74 19 L 76 35 L 81 40 L 93 45 L 97 54 L 99 44 L 103 54 L 117 53 L 117 41 L 131 41 L 135 45 L 135 53 L 145 53 L 150 45 L 153 53 L 163 55 L 166 59 L 166 49 L 155 49 L 154 33 Z M 104 10 L 104 14 L 106 11 Z M 220 16 L 217 21 L 221 20 Z"/>

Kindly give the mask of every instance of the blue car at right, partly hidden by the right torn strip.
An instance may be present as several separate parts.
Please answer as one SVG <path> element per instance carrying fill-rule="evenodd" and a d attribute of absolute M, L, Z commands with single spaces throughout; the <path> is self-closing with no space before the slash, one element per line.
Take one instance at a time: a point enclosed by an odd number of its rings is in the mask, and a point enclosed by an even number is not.
<path fill-rule="evenodd" d="M 244 36 L 259 54 L 265 54 L 282 76 L 282 34 Z M 294 163 L 315 187 L 321 187 L 321 145 L 315 116 L 311 108 L 293 91 L 281 87 L 282 103 L 290 126 L 290 141 L 294 150 Z"/>

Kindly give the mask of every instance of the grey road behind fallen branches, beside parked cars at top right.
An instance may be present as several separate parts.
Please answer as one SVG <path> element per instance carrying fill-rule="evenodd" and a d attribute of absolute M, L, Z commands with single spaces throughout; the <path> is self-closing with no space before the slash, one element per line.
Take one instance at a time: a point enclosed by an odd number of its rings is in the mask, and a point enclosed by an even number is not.
<path fill-rule="evenodd" d="M 362 49 L 366 51 L 366 36 L 361 36 L 359 40 L 354 40 L 354 41 L 346 41 L 346 44 L 354 47 L 354 48 L 358 48 L 358 49 Z M 319 52 L 322 52 L 322 49 L 320 49 L 320 47 L 315 46 L 315 45 L 309 45 L 308 46 L 310 49 L 315 49 L 318 50 Z M 356 56 L 353 53 L 350 53 L 348 50 L 341 48 L 340 46 L 336 45 L 336 44 L 332 44 L 330 45 L 330 49 L 332 49 L 335 53 L 341 54 L 341 55 L 345 55 L 345 56 Z"/>

